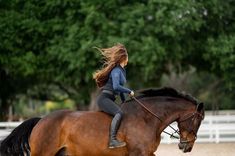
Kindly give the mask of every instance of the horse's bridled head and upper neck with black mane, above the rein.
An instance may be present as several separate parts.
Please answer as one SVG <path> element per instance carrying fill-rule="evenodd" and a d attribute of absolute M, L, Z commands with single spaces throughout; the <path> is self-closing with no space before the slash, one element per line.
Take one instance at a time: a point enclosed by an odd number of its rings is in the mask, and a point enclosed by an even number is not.
<path fill-rule="evenodd" d="M 138 99 L 134 99 L 148 113 L 152 114 L 152 116 L 162 123 L 162 129 L 160 128 L 159 132 L 162 132 L 171 122 L 177 121 L 179 132 L 172 126 L 170 127 L 180 135 L 179 148 L 183 152 L 191 152 L 194 142 L 197 139 L 198 129 L 204 118 L 204 104 L 199 103 L 197 99 L 189 94 L 180 93 L 169 87 L 146 89 L 139 93 L 142 94 L 139 98 L 151 97 L 145 99 L 145 103 L 149 105 L 144 105 Z M 159 125 L 156 127 L 159 127 Z M 172 137 L 174 137 L 173 134 L 171 134 Z"/>

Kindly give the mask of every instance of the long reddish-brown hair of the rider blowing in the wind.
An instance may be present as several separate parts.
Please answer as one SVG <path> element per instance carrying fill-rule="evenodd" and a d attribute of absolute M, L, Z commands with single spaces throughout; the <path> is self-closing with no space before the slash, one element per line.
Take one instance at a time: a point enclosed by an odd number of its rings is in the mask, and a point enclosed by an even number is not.
<path fill-rule="evenodd" d="M 93 74 L 96 84 L 99 88 L 103 87 L 108 81 L 111 70 L 124 61 L 128 54 L 124 45 L 118 43 L 111 48 L 97 48 L 103 56 L 104 63 L 101 69 Z"/>

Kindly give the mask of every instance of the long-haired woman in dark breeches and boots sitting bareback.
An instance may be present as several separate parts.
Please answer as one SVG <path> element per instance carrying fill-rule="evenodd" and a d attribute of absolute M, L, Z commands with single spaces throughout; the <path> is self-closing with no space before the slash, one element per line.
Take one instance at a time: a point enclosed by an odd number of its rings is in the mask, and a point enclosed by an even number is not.
<path fill-rule="evenodd" d="M 126 83 L 124 67 L 128 63 L 127 50 L 122 44 L 98 50 L 104 56 L 105 62 L 103 68 L 93 75 L 98 87 L 101 88 L 97 104 L 102 111 L 114 116 L 110 127 L 109 148 L 123 147 L 126 143 L 116 139 L 123 112 L 114 101 L 116 95 L 120 95 L 122 102 L 125 101 L 124 93 L 134 96 L 132 90 L 123 87 Z"/>

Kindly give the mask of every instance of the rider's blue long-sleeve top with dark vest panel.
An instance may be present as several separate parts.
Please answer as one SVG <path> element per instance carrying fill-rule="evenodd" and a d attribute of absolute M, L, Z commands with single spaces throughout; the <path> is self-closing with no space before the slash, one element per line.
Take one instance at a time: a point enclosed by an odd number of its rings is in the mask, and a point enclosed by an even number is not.
<path fill-rule="evenodd" d="M 125 95 L 130 94 L 131 90 L 124 87 L 126 83 L 126 70 L 121 66 L 114 67 L 110 74 L 107 83 L 104 85 L 103 89 L 113 91 L 114 94 L 120 95 L 122 102 L 125 101 Z"/>

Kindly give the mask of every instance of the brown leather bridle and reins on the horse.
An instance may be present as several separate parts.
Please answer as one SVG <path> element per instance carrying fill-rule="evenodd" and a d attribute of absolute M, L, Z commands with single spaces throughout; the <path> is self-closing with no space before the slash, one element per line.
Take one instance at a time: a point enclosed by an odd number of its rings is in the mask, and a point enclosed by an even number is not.
<path fill-rule="evenodd" d="M 151 115 L 153 115 L 154 117 L 156 117 L 158 120 L 160 120 L 161 122 L 163 122 L 163 120 L 157 115 L 157 114 L 155 114 L 155 113 L 153 113 L 149 108 L 147 108 L 141 101 L 139 101 L 136 97 L 132 97 L 132 99 L 134 99 L 141 107 L 143 107 L 146 111 L 148 111 Z M 196 118 L 198 118 L 198 117 L 200 117 L 200 118 L 203 118 L 203 115 L 201 114 L 201 113 L 199 113 L 199 112 L 197 112 L 197 110 L 195 111 L 195 112 L 193 112 L 193 113 L 189 113 L 189 114 L 187 114 L 187 115 L 185 115 L 186 117 L 184 118 L 183 117 L 183 119 L 182 120 L 179 120 L 178 122 L 179 123 L 181 123 L 181 122 L 185 122 L 185 121 L 188 121 L 190 118 L 192 118 L 192 122 L 196 119 Z M 176 138 L 176 139 L 180 139 L 178 136 L 175 136 L 174 134 L 175 133 L 177 133 L 179 136 L 180 136 L 180 133 L 179 133 L 179 130 L 177 129 L 175 129 L 174 127 L 172 127 L 171 125 L 169 125 L 169 127 L 171 128 L 171 129 L 173 129 L 174 130 L 174 132 L 172 133 L 172 134 L 170 134 L 170 133 L 168 133 L 168 132 L 166 132 L 166 131 L 164 131 L 163 130 L 163 132 L 164 133 L 166 133 L 167 135 L 169 135 L 171 138 Z M 180 140 L 180 143 L 189 143 L 189 142 L 192 142 L 192 141 L 195 141 L 196 139 L 197 139 L 197 133 L 192 129 L 191 131 L 190 131 L 190 133 L 191 132 L 193 132 L 193 134 L 194 134 L 194 138 L 193 139 L 191 139 L 191 140 Z M 188 133 L 188 134 L 190 134 L 190 133 Z M 186 136 L 186 138 L 187 138 L 187 136 Z"/>

